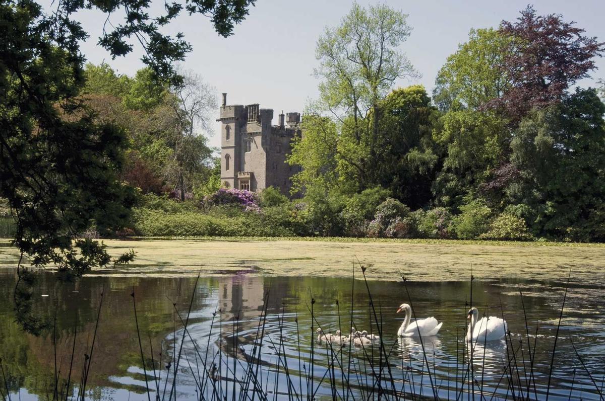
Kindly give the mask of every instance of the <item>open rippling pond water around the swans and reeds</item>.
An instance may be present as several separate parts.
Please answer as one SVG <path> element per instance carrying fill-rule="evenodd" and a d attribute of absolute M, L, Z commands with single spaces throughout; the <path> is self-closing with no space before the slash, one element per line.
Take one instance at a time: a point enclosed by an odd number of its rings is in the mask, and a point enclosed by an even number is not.
<path fill-rule="evenodd" d="M 367 288 L 364 281 L 347 278 L 245 274 L 201 277 L 197 283 L 192 277 L 111 275 L 62 282 L 44 273 L 28 304 L 49 324 L 39 336 L 25 334 L 16 321 L 15 283 L 15 271 L 0 271 L 5 377 L 0 388 L 2 397 L 8 390 L 13 400 L 65 399 L 62 394 L 76 396 L 82 387 L 88 398 L 120 400 L 198 399 L 200 394 L 253 399 L 253 393 L 267 400 L 308 399 L 309 394 L 398 399 L 404 393 L 469 399 L 472 392 L 476 399 L 514 399 L 527 397 L 528 388 L 531 399 L 542 399 L 549 373 L 551 399 L 596 400 L 603 391 L 605 286 L 575 283 L 574 277 L 558 336 L 566 283 L 475 281 L 473 305 L 481 314 L 503 315 L 511 336 L 507 342 L 476 345 L 472 365 L 463 339 L 468 282 L 371 281 Z M 410 301 L 419 318 L 443 322 L 439 335 L 422 342 L 397 339 L 404 317 L 397 307 Z M 348 332 L 353 325 L 374 333 L 380 326 L 384 347 L 327 347 L 315 341 L 312 327 L 318 325 L 325 332 Z"/>

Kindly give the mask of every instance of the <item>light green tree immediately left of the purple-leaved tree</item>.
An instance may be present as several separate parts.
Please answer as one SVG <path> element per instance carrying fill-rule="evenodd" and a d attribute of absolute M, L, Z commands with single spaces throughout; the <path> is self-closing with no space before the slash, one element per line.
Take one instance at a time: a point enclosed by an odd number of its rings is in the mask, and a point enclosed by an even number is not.
<path fill-rule="evenodd" d="M 493 29 L 471 30 L 437 74 L 434 101 L 445 111 L 434 124 L 442 149 L 433 183 L 434 202 L 459 207 L 469 191 L 486 184 L 492 171 L 508 161 L 511 129 L 505 118 L 486 107 L 511 89 L 503 68 L 512 39 Z"/>

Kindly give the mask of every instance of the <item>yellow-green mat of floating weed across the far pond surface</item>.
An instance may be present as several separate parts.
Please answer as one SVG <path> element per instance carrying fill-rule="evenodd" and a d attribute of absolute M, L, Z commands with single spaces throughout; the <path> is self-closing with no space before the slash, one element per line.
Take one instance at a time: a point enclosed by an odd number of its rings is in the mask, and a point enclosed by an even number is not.
<path fill-rule="evenodd" d="M 605 286 L 605 246 L 553 243 L 497 243 L 412 240 L 206 239 L 105 240 L 111 254 L 135 249 L 129 266 L 93 274 L 120 275 L 313 275 L 350 277 L 353 261 L 368 266 L 371 280 L 414 281 L 524 278 Z M 0 246 L 0 266 L 15 265 L 17 253 Z M 361 274 L 359 266 L 356 275 Z"/>

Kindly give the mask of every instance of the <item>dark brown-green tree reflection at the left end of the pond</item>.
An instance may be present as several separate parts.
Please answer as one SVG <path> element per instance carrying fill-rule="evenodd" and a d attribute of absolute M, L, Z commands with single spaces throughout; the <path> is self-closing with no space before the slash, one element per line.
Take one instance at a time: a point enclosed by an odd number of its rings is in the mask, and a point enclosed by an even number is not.
<path fill-rule="evenodd" d="M 13 385 L 11 391 L 27 388 L 39 396 L 53 394 L 55 321 L 57 369 L 62 376 L 69 369 L 73 333 L 77 329 L 71 377 L 71 383 L 77 385 L 85 354 L 90 353 L 100 294 L 105 292 L 88 383 L 90 388 L 119 388 L 120 384 L 111 381 L 110 376 L 132 376 L 126 368 L 141 363 L 129 294 L 134 289 L 143 339 L 146 344 L 151 339 L 154 351 L 159 353 L 163 339 L 173 328 L 172 303 L 174 301 L 178 309 L 185 310 L 194 283 L 191 278 L 138 277 L 84 277 L 60 282 L 56 274 L 45 273 L 36 274 L 35 278 L 22 290 L 27 294 L 25 303 L 15 308 L 10 295 L 14 293 L 17 278 L 15 274 L 0 277 L 2 293 L 10 297 L 10 301 L 0 304 L 0 357 L 8 382 Z M 208 294 L 217 285 L 215 281 L 204 281 L 204 288 L 195 297 L 195 309 L 204 307 Z M 22 280 L 19 285 L 23 283 Z M 48 297 L 42 297 L 43 294 Z M 19 316 L 19 312 L 25 312 L 25 315 Z M 40 325 L 38 331 L 24 332 L 23 323 L 33 327 L 34 319 L 45 324 Z"/>

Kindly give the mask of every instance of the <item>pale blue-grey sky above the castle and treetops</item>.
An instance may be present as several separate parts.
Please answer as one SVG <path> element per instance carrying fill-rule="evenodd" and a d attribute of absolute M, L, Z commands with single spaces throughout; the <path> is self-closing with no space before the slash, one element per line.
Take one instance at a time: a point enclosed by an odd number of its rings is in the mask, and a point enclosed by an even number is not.
<path fill-rule="evenodd" d="M 376 4 L 359 1 L 359 4 Z M 447 1 L 390 0 L 386 4 L 409 14 L 413 28 L 402 50 L 422 74 L 417 80 L 403 80 L 399 86 L 421 83 L 429 92 L 435 75 L 448 55 L 468 38 L 470 28 L 497 27 L 502 19 L 517 18 L 527 0 L 507 1 Z M 534 1 L 540 14 L 560 13 L 566 21 L 576 21 L 589 36 L 605 41 L 605 2 L 603 0 L 540 0 Z M 157 2 L 162 7 L 162 2 Z M 315 42 L 324 27 L 338 25 L 350 9 L 345 0 L 258 0 L 250 9 L 246 21 L 235 27 L 229 38 L 218 37 L 203 16 L 182 16 L 173 23 L 171 32 L 185 34 L 193 51 L 183 66 L 202 75 L 206 82 L 228 93 L 228 103 L 260 103 L 263 108 L 284 112 L 302 112 L 307 99 L 316 97 L 318 81 L 312 76 L 316 66 Z M 105 16 L 96 11 L 79 14 L 83 27 L 91 34 L 83 51 L 88 60 L 110 63 L 119 72 L 133 74 L 142 66 L 140 51 L 111 60 L 97 47 Z M 111 21 L 119 22 L 119 16 Z M 598 59 L 599 70 L 594 79 L 605 78 L 605 60 Z M 584 80 L 582 86 L 592 85 Z M 210 138 L 212 146 L 220 145 L 218 135 Z"/>

